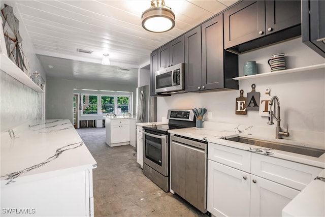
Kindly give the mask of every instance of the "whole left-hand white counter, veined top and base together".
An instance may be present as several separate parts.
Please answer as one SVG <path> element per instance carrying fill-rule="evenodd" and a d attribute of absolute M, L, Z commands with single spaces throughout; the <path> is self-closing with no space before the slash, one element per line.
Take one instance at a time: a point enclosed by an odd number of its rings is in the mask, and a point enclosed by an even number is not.
<path fill-rule="evenodd" d="M 96 167 L 68 119 L 2 132 L 2 216 L 92 216 Z"/>

